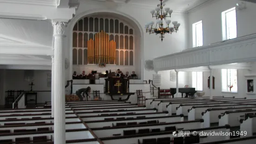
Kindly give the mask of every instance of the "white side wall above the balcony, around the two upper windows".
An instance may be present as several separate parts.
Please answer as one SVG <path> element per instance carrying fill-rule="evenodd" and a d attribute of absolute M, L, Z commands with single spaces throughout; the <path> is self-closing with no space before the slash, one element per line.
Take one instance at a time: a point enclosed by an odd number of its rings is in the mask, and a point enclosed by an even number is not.
<path fill-rule="evenodd" d="M 189 43 L 193 45 L 192 24 L 200 20 L 203 22 L 203 46 L 222 41 L 222 18 L 221 13 L 232 7 L 236 7 L 238 0 L 212 0 L 188 14 L 189 18 Z M 236 11 L 237 37 L 256 33 L 256 4 L 246 3 L 246 9 Z"/>

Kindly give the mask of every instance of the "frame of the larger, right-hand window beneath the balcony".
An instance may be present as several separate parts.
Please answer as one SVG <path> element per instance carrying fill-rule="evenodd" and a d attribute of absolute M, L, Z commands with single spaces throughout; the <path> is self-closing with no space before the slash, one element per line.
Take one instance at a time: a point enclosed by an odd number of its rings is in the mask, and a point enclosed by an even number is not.
<path fill-rule="evenodd" d="M 225 76 L 223 76 L 223 70 L 225 70 Z M 237 93 L 238 92 L 238 77 L 237 77 L 237 69 L 221 69 L 221 91 L 222 92 L 230 92 L 230 90 L 229 90 L 229 87 L 228 87 L 228 83 L 229 83 L 229 79 L 230 79 L 230 81 L 231 81 L 231 76 L 230 76 L 230 78 L 229 78 L 229 76 L 228 76 L 228 70 L 236 70 L 236 91 L 232 91 L 232 88 L 231 88 L 231 93 Z M 223 77 L 225 77 L 225 84 L 223 85 Z M 223 89 L 223 87 L 225 87 L 225 90 Z"/>

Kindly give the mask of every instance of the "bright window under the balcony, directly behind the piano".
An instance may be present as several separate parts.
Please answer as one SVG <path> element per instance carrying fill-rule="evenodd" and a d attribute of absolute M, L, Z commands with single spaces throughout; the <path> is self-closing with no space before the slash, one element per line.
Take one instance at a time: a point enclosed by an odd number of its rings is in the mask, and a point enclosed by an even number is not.
<path fill-rule="evenodd" d="M 192 87 L 196 91 L 203 91 L 203 72 L 192 72 Z"/>

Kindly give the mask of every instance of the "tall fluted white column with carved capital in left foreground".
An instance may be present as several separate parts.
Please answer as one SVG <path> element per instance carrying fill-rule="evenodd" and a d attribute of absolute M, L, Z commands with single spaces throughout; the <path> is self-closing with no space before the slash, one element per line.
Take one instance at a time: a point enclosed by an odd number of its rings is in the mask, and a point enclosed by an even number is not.
<path fill-rule="evenodd" d="M 54 37 L 54 144 L 66 144 L 65 60 L 63 39 L 65 22 L 53 22 Z"/>

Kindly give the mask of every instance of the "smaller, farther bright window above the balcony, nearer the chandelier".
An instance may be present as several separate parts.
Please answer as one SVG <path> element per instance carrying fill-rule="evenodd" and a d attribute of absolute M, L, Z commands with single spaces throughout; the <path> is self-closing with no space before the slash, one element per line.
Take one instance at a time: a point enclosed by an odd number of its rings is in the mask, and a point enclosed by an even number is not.
<path fill-rule="evenodd" d="M 193 47 L 203 46 L 203 28 L 202 20 L 193 25 Z"/>

